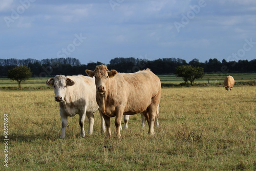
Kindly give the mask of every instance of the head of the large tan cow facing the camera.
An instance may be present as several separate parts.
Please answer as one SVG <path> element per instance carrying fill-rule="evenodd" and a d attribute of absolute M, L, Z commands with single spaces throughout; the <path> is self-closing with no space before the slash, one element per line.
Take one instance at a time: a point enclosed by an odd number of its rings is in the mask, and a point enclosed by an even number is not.
<path fill-rule="evenodd" d="M 104 94 L 109 89 L 109 79 L 117 74 L 116 70 L 109 71 L 105 65 L 97 66 L 94 71 L 86 70 L 90 77 L 95 77 L 97 92 Z"/>

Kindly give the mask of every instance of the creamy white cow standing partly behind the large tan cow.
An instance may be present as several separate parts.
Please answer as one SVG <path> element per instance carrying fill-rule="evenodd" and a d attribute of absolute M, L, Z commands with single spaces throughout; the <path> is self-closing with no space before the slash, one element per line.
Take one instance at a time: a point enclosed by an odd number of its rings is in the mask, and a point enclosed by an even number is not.
<path fill-rule="evenodd" d="M 85 136 L 83 129 L 84 119 L 89 119 L 89 134 L 93 133 L 94 112 L 99 108 L 95 98 L 94 79 L 82 75 L 67 76 L 56 75 L 49 78 L 46 84 L 54 87 L 54 100 L 59 102 L 59 113 L 62 120 L 62 131 L 60 138 L 65 138 L 68 116 L 79 115 L 81 126 L 80 135 Z M 104 119 L 101 116 L 101 132 L 105 132 Z"/>

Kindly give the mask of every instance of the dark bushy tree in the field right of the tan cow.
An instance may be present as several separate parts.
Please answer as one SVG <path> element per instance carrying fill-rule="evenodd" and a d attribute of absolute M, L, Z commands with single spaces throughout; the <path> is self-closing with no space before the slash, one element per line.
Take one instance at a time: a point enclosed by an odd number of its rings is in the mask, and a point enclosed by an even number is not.
<path fill-rule="evenodd" d="M 195 79 L 204 76 L 204 69 L 202 67 L 179 66 L 176 68 L 175 74 L 177 77 L 182 77 L 185 83 L 190 81 L 190 84 L 193 85 Z"/>

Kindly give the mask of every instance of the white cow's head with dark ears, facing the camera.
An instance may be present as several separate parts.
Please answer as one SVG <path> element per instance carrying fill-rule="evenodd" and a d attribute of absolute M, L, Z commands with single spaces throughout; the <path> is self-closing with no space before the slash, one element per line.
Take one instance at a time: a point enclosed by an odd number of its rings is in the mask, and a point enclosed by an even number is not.
<path fill-rule="evenodd" d="M 54 100 L 55 101 L 63 101 L 68 86 L 73 86 L 75 82 L 64 75 L 56 75 L 53 78 L 49 78 L 46 81 L 47 86 L 54 87 Z"/>

